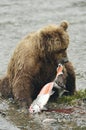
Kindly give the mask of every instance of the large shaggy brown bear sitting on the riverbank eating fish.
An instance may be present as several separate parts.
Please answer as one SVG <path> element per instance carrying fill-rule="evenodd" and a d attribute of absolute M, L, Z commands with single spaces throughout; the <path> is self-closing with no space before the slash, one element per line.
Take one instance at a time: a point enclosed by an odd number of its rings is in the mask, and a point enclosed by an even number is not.
<path fill-rule="evenodd" d="M 42 86 L 52 81 L 60 61 L 67 71 L 66 89 L 75 91 L 75 72 L 67 59 L 68 23 L 49 25 L 26 36 L 16 47 L 8 64 L 6 76 L 0 80 L 2 96 L 31 104 Z M 57 95 L 57 94 L 56 94 Z"/>

